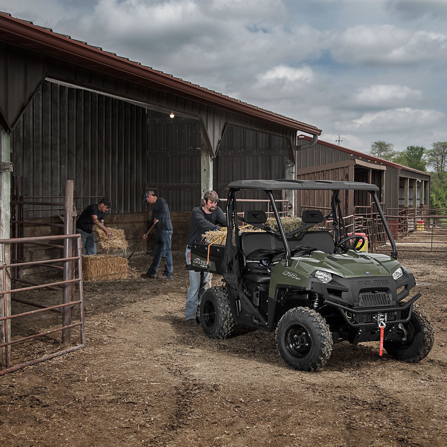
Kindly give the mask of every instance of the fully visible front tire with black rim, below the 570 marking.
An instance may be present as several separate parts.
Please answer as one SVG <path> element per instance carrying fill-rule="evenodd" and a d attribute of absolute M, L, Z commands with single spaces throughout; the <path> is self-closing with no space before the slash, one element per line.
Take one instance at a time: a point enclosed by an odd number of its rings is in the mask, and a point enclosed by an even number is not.
<path fill-rule="evenodd" d="M 289 366 L 300 371 L 317 371 L 325 366 L 332 350 L 329 326 L 316 311 L 297 307 L 278 322 L 276 344 Z"/>

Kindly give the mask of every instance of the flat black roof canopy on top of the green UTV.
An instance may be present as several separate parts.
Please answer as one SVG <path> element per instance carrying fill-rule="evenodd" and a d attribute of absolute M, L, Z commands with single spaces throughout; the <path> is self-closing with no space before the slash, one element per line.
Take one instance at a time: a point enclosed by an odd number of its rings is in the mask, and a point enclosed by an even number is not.
<path fill-rule="evenodd" d="M 228 188 L 247 190 L 364 190 L 378 191 L 370 183 L 332 180 L 237 180 Z"/>

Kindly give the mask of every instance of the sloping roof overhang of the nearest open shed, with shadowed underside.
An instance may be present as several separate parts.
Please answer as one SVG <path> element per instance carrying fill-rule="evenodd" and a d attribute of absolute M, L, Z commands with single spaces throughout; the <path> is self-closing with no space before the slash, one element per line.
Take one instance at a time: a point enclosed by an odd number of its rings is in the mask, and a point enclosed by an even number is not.
<path fill-rule="evenodd" d="M 115 55 L 101 48 L 88 45 L 48 28 L 0 13 L 0 39 L 33 51 L 42 52 L 127 81 L 160 89 L 219 109 L 242 114 L 262 122 L 287 127 L 312 135 L 321 135 L 317 127 L 275 114 L 243 101 L 205 89 L 199 85 L 146 67 L 138 62 Z"/>

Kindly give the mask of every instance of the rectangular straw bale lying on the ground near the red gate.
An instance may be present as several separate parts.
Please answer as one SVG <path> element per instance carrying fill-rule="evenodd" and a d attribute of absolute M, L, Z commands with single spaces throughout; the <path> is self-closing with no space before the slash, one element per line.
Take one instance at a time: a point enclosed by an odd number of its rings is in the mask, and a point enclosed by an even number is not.
<path fill-rule="evenodd" d="M 91 254 L 82 257 L 84 281 L 110 281 L 113 279 L 135 278 L 134 270 L 124 257 L 106 254 Z"/>

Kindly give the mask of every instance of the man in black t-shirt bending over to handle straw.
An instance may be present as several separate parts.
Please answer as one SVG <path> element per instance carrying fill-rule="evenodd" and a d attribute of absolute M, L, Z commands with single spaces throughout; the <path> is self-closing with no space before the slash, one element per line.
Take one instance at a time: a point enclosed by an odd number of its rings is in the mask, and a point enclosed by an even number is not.
<path fill-rule="evenodd" d="M 103 229 L 107 237 L 113 236 L 109 228 L 104 225 L 105 211 L 109 211 L 111 207 L 110 200 L 103 197 L 99 203 L 93 203 L 86 207 L 76 220 L 76 233 L 81 235 L 82 247 L 84 248 L 85 254 L 96 254 L 93 225 L 97 225 Z"/>

